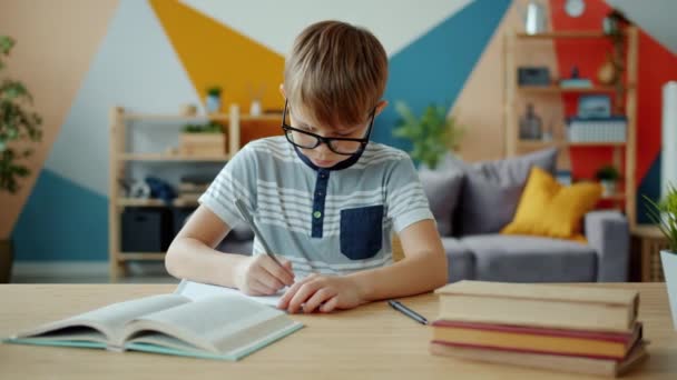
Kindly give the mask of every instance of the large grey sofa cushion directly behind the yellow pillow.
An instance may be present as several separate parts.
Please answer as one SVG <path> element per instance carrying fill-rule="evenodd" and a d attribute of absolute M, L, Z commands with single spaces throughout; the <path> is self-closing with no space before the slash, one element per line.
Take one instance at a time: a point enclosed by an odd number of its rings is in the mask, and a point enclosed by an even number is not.
<path fill-rule="evenodd" d="M 454 234 L 496 233 L 514 216 L 531 167 L 555 172 L 557 149 L 498 161 L 460 164 L 465 172 Z"/>

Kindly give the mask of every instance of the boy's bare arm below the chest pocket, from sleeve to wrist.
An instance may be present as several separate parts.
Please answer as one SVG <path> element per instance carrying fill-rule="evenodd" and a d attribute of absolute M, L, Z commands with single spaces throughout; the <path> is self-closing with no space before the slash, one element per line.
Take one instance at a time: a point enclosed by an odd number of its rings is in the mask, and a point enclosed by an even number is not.
<path fill-rule="evenodd" d="M 399 237 L 403 260 L 346 276 L 355 282 L 365 301 L 423 293 L 447 283 L 447 254 L 432 220 L 415 222 Z"/>

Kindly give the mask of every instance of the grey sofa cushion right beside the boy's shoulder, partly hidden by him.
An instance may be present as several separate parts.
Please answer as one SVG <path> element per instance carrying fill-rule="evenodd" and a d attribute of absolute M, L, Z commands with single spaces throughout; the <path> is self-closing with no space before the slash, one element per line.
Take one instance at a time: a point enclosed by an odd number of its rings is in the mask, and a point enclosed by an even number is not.
<path fill-rule="evenodd" d="M 452 234 L 453 213 L 458 204 L 461 186 L 463 184 L 463 172 L 444 170 L 432 171 L 421 169 L 419 178 L 423 191 L 428 197 L 430 210 L 435 218 L 438 232 L 442 237 Z"/>

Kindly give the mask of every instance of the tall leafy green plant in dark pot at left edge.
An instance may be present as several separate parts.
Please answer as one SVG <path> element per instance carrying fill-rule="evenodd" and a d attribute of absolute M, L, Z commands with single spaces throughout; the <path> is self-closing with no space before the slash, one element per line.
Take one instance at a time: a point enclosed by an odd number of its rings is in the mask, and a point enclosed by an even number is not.
<path fill-rule="evenodd" d="M 14 40 L 0 36 L 0 71 L 2 57 L 9 56 Z M 40 141 L 42 119 L 27 110 L 32 97 L 23 83 L 9 78 L 0 82 L 0 192 L 16 193 L 19 180 L 30 170 L 24 160 L 32 154 L 30 142 Z M 0 282 L 9 282 L 12 266 L 12 244 L 9 237 L 0 237 Z"/>

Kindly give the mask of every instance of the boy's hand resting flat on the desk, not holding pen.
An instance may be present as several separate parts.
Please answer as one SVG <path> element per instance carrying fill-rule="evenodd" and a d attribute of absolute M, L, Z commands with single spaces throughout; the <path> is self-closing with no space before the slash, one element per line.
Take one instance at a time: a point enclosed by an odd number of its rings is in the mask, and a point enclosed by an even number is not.
<path fill-rule="evenodd" d="M 365 302 L 353 279 L 313 273 L 287 289 L 277 308 L 292 313 L 301 309 L 303 312 L 331 312 L 352 309 Z"/>

